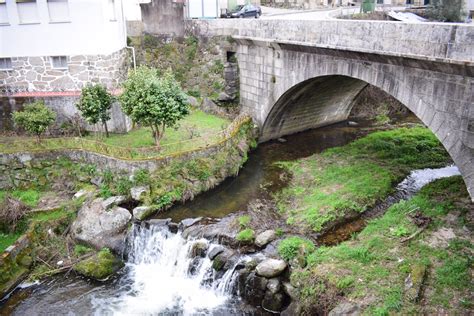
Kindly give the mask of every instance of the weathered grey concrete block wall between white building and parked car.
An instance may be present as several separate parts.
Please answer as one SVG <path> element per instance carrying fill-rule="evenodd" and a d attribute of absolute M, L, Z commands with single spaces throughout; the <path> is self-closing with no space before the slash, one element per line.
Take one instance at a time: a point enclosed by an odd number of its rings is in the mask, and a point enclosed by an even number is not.
<path fill-rule="evenodd" d="M 166 37 L 184 36 L 183 3 L 172 0 L 152 0 L 140 4 L 145 33 Z"/>

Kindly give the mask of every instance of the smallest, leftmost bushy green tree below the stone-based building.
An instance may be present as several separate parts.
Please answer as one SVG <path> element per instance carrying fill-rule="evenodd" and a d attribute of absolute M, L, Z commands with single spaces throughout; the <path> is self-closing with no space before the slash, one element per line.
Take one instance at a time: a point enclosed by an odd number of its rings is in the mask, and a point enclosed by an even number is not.
<path fill-rule="evenodd" d="M 43 101 L 27 104 L 23 111 L 14 112 L 12 116 L 15 124 L 36 135 L 38 142 L 41 141 L 41 134 L 56 120 L 56 113 L 48 109 Z"/>

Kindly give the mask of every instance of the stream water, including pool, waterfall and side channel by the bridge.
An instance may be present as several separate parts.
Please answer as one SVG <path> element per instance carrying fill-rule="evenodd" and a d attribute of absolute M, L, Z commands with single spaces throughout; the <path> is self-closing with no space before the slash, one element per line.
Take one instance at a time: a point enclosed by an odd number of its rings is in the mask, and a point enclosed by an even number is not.
<path fill-rule="evenodd" d="M 245 210 L 251 201 L 268 199 L 271 193 L 286 185 L 287 177 L 282 176 L 283 170 L 274 162 L 295 160 L 347 144 L 364 135 L 362 127 L 368 126 L 367 122 L 360 122 L 357 127 L 340 123 L 285 137 L 284 142 L 261 144 L 250 154 L 237 177 L 155 218 L 172 218 L 179 222 L 198 216 L 222 218 Z M 434 179 L 455 174 L 459 174 L 455 166 L 413 171 L 399 184 L 396 193 L 381 203 L 380 209 L 410 198 Z M 336 228 L 328 234 L 336 237 L 322 243 L 332 244 L 346 238 L 340 236 L 342 231 L 359 231 L 366 220 L 353 221 L 355 228 Z M 241 256 L 234 267 L 225 273 L 216 273 L 206 255 L 195 253 L 197 243 L 208 252 L 217 246 L 208 240 L 186 240 L 180 232 L 171 233 L 167 226 L 139 224 L 134 225 L 128 239 L 126 266 L 112 280 L 92 282 L 71 273 L 41 284 L 21 285 L 7 300 L 0 302 L 0 315 L 265 314 L 246 305 L 236 295 L 235 266 L 258 254 Z"/>

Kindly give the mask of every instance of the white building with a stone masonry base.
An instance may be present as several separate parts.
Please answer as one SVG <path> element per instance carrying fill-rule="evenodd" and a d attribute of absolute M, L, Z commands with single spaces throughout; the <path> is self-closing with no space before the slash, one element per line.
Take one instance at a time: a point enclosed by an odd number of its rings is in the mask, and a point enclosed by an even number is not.
<path fill-rule="evenodd" d="M 0 0 L 0 94 L 115 88 L 125 46 L 122 0 Z"/>

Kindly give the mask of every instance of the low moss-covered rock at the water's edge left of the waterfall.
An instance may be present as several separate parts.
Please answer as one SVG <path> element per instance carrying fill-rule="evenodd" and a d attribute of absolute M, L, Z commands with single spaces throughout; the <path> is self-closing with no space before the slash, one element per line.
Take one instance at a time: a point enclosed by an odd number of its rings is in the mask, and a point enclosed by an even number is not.
<path fill-rule="evenodd" d="M 103 281 L 123 267 L 123 262 L 117 259 L 109 249 L 104 248 L 90 258 L 73 266 L 74 271 L 88 278 Z"/>

